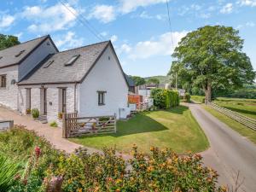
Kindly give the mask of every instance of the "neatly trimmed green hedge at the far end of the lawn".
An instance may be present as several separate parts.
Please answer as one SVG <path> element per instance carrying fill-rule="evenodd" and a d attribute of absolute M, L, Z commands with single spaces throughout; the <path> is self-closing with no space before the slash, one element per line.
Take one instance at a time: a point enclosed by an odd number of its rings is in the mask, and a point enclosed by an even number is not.
<path fill-rule="evenodd" d="M 174 90 L 156 88 L 151 90 L 151 97 L 157 108 L 172 108 L 179 105 L 179 94 Z"/>

